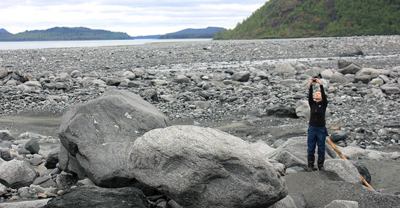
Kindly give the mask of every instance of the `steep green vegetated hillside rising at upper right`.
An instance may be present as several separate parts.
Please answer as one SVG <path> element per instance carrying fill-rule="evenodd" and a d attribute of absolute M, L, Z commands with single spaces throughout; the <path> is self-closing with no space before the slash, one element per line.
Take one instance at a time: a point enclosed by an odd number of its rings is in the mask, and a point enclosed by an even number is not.
<path fill-rule="evenodd" d="M 214 39 L 400 34 L 400 0 L 269 0 Z"/>

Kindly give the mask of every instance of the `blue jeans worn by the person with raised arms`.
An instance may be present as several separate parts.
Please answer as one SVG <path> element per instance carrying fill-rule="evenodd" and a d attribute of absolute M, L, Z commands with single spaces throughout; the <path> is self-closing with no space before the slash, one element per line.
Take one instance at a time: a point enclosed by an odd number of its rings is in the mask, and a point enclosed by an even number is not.
<path fill-rule="evenodd" d="M 325 138 L 328 129 L 325 126 L 308 126 L 307 154 L 315 154 L 315 146 L 318 145 L 318 156 L 325 157 Z"/>

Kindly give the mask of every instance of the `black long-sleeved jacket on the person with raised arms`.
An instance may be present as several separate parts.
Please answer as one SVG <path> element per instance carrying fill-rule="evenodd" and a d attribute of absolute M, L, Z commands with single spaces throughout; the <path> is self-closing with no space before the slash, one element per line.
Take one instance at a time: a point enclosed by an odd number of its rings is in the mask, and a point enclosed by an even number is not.
<path fill-rule="evenodd" d="M 324 91 L 324 86 L 320 85 L 322 100 L 319 103 L 313 98 L 312 85 L 309 86 L 308 104 L 310 108 L 309 125 L 310 126 L 325 126 L 325 112 L 328 106 L 328 99 Z"/>

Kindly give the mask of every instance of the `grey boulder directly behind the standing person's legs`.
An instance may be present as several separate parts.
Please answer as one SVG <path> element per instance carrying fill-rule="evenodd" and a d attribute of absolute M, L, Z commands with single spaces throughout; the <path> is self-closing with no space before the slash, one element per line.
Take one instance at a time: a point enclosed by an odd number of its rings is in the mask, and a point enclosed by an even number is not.
<path fill-rule="evenodd" d="M 330 145 L 325 145 L 326 159 L 339 158 Z M 270 152 L 267 157 L 285 164 L 286 167 L 307 168 L 307 137 L 289 138 L 279 148 Z"/>

